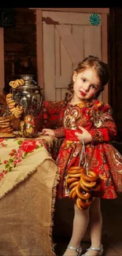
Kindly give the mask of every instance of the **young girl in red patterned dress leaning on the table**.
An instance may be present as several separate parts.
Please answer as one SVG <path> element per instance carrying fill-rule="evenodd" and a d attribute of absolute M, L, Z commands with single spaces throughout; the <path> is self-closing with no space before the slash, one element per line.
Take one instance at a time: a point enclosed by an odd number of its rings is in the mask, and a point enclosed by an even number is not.
<path fill-rule="evenodd" d="M 65 137 L 57 156 L 60 173 L 60 181 L 57 185 L 58 198 L 68 196 L 65 177 L 69 167 L 79 165 L 82 141 L 85 143 L 88 167 L 98 173 L 101 180 L 101 194 L 93 198 L 87 210 L 79 210 L 75 203 L 72 238 L 65 250 L 65 256 L 82 254 L 80 242 L 89 221 L 91 247 L 83 255 L 102 256 L 100 197 L 113 199 L 122 191 L 122 156 L 109 143 L 116 135 L 116 124 L 110 106 L 97 99 L 108 81 L 108 65 L 98 58 L 89 56 L 79 62 L 65 95 L 65 107 L 61 113 L 63 126 L 55 130 L 43 129 L 44 135 Z"/>

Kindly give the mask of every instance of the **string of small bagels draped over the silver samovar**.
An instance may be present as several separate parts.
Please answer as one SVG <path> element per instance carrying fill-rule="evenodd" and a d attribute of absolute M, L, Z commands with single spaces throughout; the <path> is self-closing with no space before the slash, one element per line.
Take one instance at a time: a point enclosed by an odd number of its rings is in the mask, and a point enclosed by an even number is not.
<path fill-rule="evenodd" d="M 12 87 L 13 89 L 16 89 L 17 87 L 24 85 L 24 80 L 22 79 L 17 79 L 9 82 L 9 86 Z M 17 103 L 13 99 L 13 94 L 9 93 L 6 95 L 6 102 L 9 107 L 9 111 L 16 117 L 20 118 L 21 114 L 23 113 L 23 107 L 17 105 Z"/>

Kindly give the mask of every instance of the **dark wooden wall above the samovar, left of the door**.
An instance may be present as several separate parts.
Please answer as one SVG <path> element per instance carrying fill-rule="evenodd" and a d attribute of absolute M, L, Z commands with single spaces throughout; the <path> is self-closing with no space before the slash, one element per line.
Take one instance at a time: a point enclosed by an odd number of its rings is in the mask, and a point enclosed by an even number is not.
<path fill-rule="evenodd" d="M 5 47 L 5 91 L 9 91 L 9 81 L 20 74 L 34 74 L 36 68 L 36 26 L 35 11 L 28 8 L 14 8 L 15 25 L 4 28 Z"/>

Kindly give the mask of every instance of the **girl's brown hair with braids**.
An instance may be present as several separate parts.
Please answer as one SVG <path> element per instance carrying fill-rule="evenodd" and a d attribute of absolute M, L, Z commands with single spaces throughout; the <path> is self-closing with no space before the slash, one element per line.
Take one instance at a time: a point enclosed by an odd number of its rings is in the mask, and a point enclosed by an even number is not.
<path fill-rule="evenodd" d="M 88 68 L 94 68 L 94 70 L 101 82 L 101 88 L 98 91 L 97 95 L 95 95 L 95 98 L 98 98 L 100 93 L 104 90 L 105 84 L 108 83 L 108 81 L 109 81 L 109 66 L 106 63 L 104 63 L 103 61 L 101 61 L 99 58 L 90 55 L 87 58 L 85 58 L 82 62 L 78 63 L 74 72 L 76 71 L 77 73 L 79 73 Z M 65 94 L 65 100 L 64 100 L 65 106 L 72 99 L 72 96 L 74 93 L 73 83 L 74 82 L 71 78 L 70 83 L 68 83 L 67 92 Z"/>

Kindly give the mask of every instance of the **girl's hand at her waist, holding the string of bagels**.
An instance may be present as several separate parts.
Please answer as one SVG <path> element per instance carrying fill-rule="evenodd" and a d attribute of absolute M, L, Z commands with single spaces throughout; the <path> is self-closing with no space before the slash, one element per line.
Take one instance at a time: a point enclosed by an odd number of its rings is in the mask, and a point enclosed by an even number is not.
<path fill-rule="evenodd" d="M 77 136 L 77 138 L 79 140 L 84 140 L 84 143 L 91 143 L 92 141 L 92 137 L 91 137 L 91 133 L 87 132 L 87 130 L 81 126 L 79 126 L 79 129 L 82 131 L 82 133 L 79 132 L 75 132 L 75 135 Z"/>

